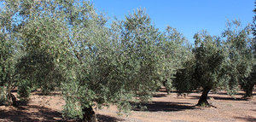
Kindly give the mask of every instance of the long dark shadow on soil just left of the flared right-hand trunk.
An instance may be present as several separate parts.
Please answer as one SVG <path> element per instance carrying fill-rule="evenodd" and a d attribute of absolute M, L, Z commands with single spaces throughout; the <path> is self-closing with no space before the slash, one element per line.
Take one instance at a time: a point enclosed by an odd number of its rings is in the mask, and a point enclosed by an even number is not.
<path fill-rule="evenodd" d="M 149 111 L 149 112 L 173 112 L 173 111 L 183 111 L 187 109 L 195 109 L 191 103 L 187 102 L 149 102 L 149 103 L 132 103 L 134 111 Z M 143 109 L 146 107 L 146 109 Z"/>

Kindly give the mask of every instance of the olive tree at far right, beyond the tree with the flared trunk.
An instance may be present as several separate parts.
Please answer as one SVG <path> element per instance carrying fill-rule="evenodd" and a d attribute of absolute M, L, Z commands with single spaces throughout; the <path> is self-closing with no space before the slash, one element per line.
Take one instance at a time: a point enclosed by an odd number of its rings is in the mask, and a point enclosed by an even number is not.
<path fill-rule="evenodd" d="M 241 89 L 246 91 L 246 97 L 252 96 L 255 76 L 253 76 L 253 38 L 251 38 L 251 27 L 241 27 L 241 22 L 234 20 L 228 22 L 228 27 L 223 36 L 225 45 L 229 52 L 229 61 L 231 69 L 227 72 L 230 75 L 229 86 L 227 90 L 232 94 L 236 93 L 238 84 Z M 255 44 L 254 44 L 255 45 Z M 235 88 L 235 87 L 236 88 Z"/>

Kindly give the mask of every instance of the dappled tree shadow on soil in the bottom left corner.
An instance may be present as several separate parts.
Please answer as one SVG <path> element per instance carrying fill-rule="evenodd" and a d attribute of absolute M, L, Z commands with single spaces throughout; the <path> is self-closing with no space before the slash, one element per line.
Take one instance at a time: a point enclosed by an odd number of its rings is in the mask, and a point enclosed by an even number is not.
<path fill-rule="evenodd" d="M 48 107 L 31 105 L 20 106 L 11 110 L 0 110 L 0 119 L 10 121 L 62 121 L 62 116 L 60 112 Z"/>

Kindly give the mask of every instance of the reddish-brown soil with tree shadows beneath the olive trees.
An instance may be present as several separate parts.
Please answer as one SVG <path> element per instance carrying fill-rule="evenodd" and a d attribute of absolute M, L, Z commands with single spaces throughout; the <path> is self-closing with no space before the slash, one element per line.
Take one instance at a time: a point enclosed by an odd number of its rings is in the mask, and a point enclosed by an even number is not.
<path fill-rule="evenodd" d="M 96 110 L 99 121 L 124 122 L 187 122 L 187 121 L 256 121 L 256 90 L 250 101 L 241 99 L 242 92 L 234 98 L 224 91 L 210 93 L 209 102 L 214 107 L 195 107 L 200 94 L 191 93 L 186 98 L 176 93 L 158 92 L 153 100 L 144 104 L 148 109 L 134 109 L 129 116 L 119 116 L 117 108 L 110 106 Z M 0 121 L 65 121 L 61 107 L 65 102 L 57 93 L 40 96 L 33 93 L 26 106 L 0 106 Z"/>

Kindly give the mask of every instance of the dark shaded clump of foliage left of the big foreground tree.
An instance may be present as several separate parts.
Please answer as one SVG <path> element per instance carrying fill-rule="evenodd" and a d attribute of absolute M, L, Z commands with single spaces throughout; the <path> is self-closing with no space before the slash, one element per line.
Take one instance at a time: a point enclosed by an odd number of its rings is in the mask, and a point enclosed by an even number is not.
<path fill-rule="evenodd" d="M 30 85 L 27 84 L 30 88 L 41 88 L 42 93 L 47 94 L 60 86 L 63 78 L 56 69 L 54 58 L 51 55 L 45 52 L 32 53 L 22 56 L 16 65 L 20 79 L 30 82 Z"/>

